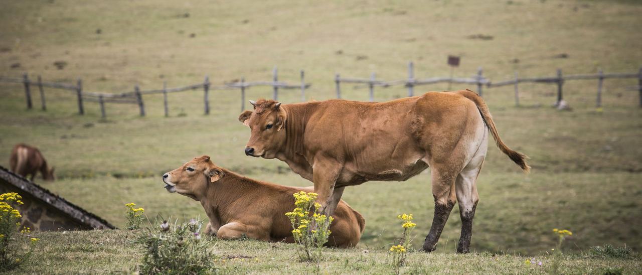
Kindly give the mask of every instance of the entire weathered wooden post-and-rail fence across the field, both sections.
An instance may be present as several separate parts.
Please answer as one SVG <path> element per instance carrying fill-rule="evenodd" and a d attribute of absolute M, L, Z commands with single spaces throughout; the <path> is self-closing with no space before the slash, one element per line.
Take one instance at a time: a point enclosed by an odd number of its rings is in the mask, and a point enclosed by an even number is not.
<path fill-rule="evenodd" d="M 134 91 L 128 91 L 124 93 L 92 93 L 83 90 L 82 80 L 78 79 L 76 84 L 60 84 L 54 82 L 43 82 L 40 76 L 37 77 L 37 81 L 32 81 L 29 79 L 29 76 L 24 73 L 22 78 L 2 78 L 0 77 L 0 82 L 6 83 L 17 83 L 24 85 L 24 93 L 27 103 L 27 109 L 33 108 L 33 102 L 31 102 L 31 87 L 38 87 L 40 93 L 40 103 L 42 105 L 42 110 L 46 111 L 46 100 L 44 94 L 44 87 L 52 89 L 62 89 L 65 91 L 70 91 L 76 94 L 76 100 L 78 103 L 78 113 L 85 114 L 84 102 L 98 102 L 100 104 L 101 117 L 107 118 L 107 113 L 105 112 L 106 103 L 126 103 L 126 104 L 135 104 L 139 107 L 139 112 L 141 116 L 145 116 L 145 104 L 143 100 L 144 95 L 149 94 L 163 94 L 163 105 L 165 116 L 169 116 L 168 108 L 168 93 L 177 93 L 182 91 L 189 91 L 195 89 L 203 89 L 204 96 L 204 112 L 209 114 L 209 91 L 214 90 L 239 90 L 241 96 L 241 111 L 245 110 L 245 91 L 250 89 L 250 87 L 255 86 L 268 86 L 273 89 L 273 99 L 279 99 L 279 89 L 300 89 L 301 91 L 301 101 L 306 100 L 306 89 L 310 87 L 311 84 L 306 84 L 305 82 L 305 73 L 303 70 L 300 71 L 300 84 L 287 84 L 286 82 L 279 82 L 278 72 L 275 67 L 272 71 L 272 81 L 266 82 L 245 82 L 245 78 L 241 78 L 239 82 L 227 83 L 220 86 L 212 86 L 209 82 L 209 77 L 205 76 L 203 82 L 187 85 L 184 87 L 175 87 L 168 88 L 167 83 L 163 82 L 162 89 L 157 90 L 147 90 L 141 91 L 138 85 L 135 85 Z M 377 80 L 376 75 L 372 73 L 370 78 L 342 78 L 338 73 L 334 76 L 334 83 L 336 87 L 336 98 L 342 98 L 341 96 L 341 83 L 354 83 L 354 84 L 365 84 L 369 87 L 369 98 L 370 101 L 374 101 L 374 87 L 390 87 L 394 85 L 404 85 L 408 89 L 408 96 L 414 95 L 414 87 L 419 85 L 429 85 L 437 83 L 458 83 L 458 84 L 475 84 L 477 85 L 477 93 L 480 96 L 483 96 L 483 87 L 494 88 L 501 87 L 505 85 L 514 85 L 514 96 L 515 96 L 515 105 L 519 106 L 519 83 L 532 82 L 532 83 L 542 83 L 542 84 L 555 84 L 557 85 L 557 104 L 563 100 L 563 86 L 567 80 L 598 80 L 597 89 L 596 89 L 596 107 L 602 107 L 602 91 L 603 91 L 603 82 L 605 79 L 609 78 L 638 78 L 638 85 L 632 86 L 628 89 L 636 89 L 639 93 L 639 106 L 642 107 L 642 68 L 638 73 L 603 73 L 600 69 L 596 74 L 593 75 L 562 75 L 562 70 L 557 69 L 555 76 L 550 77 L 540 77 L 540 78 L 519 78 L 518 73 L 515 73 L 515 77 L 510 80 L 505 80 L 501 82 L 490 82 L 488 78 L 483 76 L 482 68 L 480 67 L 477 71 L 477 74 L 471 78 L 453 78 L 453 77 L 433 77 L 433 78 L 415 78 L 413 62 L 408 63 L 408 78 L 403 80 L 392 80 L 384 81 Z"/>

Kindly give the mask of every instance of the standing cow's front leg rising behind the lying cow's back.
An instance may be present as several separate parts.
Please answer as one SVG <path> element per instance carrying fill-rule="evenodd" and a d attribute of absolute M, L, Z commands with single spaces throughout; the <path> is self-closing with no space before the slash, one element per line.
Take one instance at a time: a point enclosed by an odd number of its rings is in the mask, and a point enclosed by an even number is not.
<path fill-rule="evenodd" d="M 343 188 L 337 188 L 336 195 L 334 190 L 341 167 L 339 163 L 334 161 L 315 161 L 313 166 L 315 193 L 318 194 L 317 202 L 321 204 L 318 212 L 324 213 L 328 217 L 334 213 L 343 194 Z"/>

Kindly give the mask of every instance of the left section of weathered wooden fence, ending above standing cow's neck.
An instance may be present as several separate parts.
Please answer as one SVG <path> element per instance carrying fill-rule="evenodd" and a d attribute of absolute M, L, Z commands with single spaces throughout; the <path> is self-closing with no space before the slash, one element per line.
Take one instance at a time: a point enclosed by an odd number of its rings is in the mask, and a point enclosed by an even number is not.
<path fill-rule="evenodd" d="M 31 102 L 31 87 L 38 87 L 40 92 L 40 102 L 42 103 L 42 110 L 46 111 L 46 100 L 44 95 L 44 87 L 49 87 L 53 89 L 62 89 L 65 91 L 71 91 L 76 94 L 78 100 L 78 114 L 85 114 L 84 102 L 97 102 L 100 104 L 101 118 L 107 118 L 107 112 L 105 111 L 105 103 L 126 103 L 126 104 L 135 104 L 139 107 L 139 112 L 141 116 L 145 116 L 145 104 L 143 100 L 143 95 L 146 94 L 163 94 L 163 105 L 165 116 L 169 116 L 169 107 L 168 107 L 168 93 L 177 93 L 182 91 L 189 91 L 195 89 L 203 89 L 204 97 L 204 112 L 209 114 L 209 91 L 210 90 L 236 90 L 240 89 L 241 91 L 241 111 L 245 110 L 245 91 L 250 87 L 255 86 L 271 86 L 273 89 L 273 98 L 278 100 L 279 89 L 300 89 L 301 91 L 301 100 L 305 101 L 306 99 L 306 89 L 310 87 L 311 84 L 305 83 L 305 72 L 300 71 L 300 84 L 291 85 L 286 82 L 279 82 L 277 77 L 276 67 L 273 69 L 273 81 L 272 82 L 245 82 L 245 78 L 241 78 L 240 82 L 234 82 L 229 84 L 224 84 L 220 86 L 212 86 L 209 82 L 209 77 L 205 76 L 204 82 L 198 84 L 187 85 L 184 87 L 168 88 L 167 83 L 163 82 L 162 89 L 157 90 L 147 90 L 141 91 L 138 85 L 134 86 L 134 91 L 128 91 L 123 93 L 94 93 L 83 91 L 82 80 L 78 79 L 76 85 L 74 84 L 60 84 L 55 82 L 43 82 L 40 75 L 37 77 L 37 81 L 33 82 L 29 79 L 27 73 L 22 75 L 22 78 L 3 78 L 0 77 L 0 82 L 5 83 L 18 83 L 24 85 L 24 93 L 27 101 L 27 109 L 33 109 L 33 102 Z"/>

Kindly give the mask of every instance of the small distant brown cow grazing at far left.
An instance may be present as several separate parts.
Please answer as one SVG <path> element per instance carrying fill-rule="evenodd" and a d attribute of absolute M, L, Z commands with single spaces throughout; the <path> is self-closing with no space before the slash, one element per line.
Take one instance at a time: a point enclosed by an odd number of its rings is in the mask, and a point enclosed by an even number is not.
<path fill-rule="evenodd" d="M 9 163 L 13 173 L 17 173 L 22 177 L 30 175 L 30 181 L 33 181 L 33 177 L 38 172 L 42 174 L 42 179 L 45 181 L 53 181 L 55 179 L 53 167 L 50 168 L 47 165 L 47 161 L 40 153 L 40 150 L 33 146 L 23 143 L 13 146 Z"/>

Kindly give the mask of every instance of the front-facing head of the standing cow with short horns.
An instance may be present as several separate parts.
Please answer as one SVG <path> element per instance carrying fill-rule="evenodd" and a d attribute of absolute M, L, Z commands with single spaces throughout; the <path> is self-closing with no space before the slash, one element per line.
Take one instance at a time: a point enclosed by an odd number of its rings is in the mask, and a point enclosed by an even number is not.
<path fill-rule="evenodd" d="M 281 103 L 274 100 L 250 100 L 250 103 L 254 105 L 254 111 L 245 111 L 239 116 L 239 121 L 252 130 L 245 154 L 272 159 L 285 143 L 288 114 Z"/>

